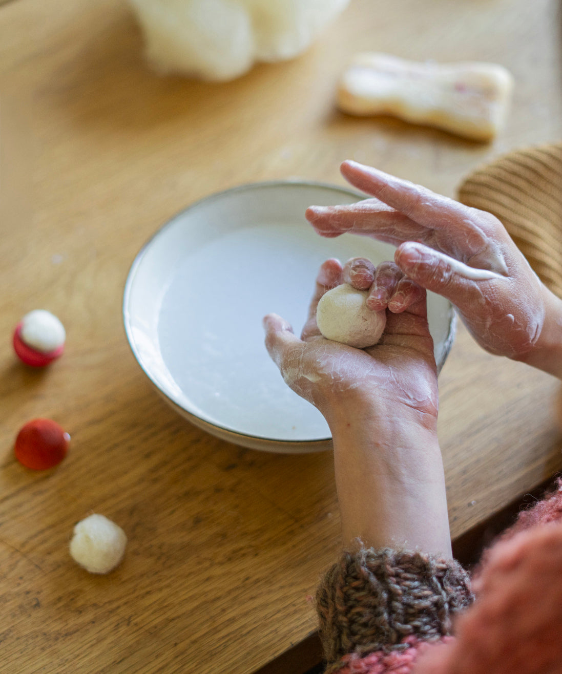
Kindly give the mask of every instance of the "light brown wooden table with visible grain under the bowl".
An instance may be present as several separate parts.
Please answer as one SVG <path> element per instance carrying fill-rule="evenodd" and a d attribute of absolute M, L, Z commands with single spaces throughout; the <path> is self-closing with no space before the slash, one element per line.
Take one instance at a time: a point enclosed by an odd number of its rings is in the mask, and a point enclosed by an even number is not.
<path fill-rule="evenodd" d="M 555 0 L 352 0 L 302 57 L 226 84 L 146 67 L 124 2 L 0 7 L 0 671 L 251 673 L 315 630 L 307 596 L 334 559 L 329 452 L 245 450 L 183 421 L 133 359 L 121 318 L 129 266 L 170 216 L 241 183 L 343 184 L 356 158 L 454 195 L 507 150 L 562 136 Z M 516 77 L 507 129 L 473 144 L 334 109 L 358 50 L 499 61 Z M 67 328 L 46 371 L 15 360 L 37 307 Z M 562 468 L 559 384 L 491 357 L 460 326 L 441 373 L 440 439 L 454 538 Z M 71 433 L 55 470 L 13 458 L 20 426 Z M 69 557 L 100 512 L 127 532 L 121 566 Z"/>

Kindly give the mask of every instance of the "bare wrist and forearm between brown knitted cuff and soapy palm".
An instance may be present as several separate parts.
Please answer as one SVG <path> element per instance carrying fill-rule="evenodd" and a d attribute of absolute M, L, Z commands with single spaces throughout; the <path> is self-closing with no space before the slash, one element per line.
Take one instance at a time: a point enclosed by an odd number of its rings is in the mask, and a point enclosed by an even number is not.
<path fill-rule="evenodd" d="M 451 556 L 436 418 L 377 399 L 331 425 L 344 543 Z"/>

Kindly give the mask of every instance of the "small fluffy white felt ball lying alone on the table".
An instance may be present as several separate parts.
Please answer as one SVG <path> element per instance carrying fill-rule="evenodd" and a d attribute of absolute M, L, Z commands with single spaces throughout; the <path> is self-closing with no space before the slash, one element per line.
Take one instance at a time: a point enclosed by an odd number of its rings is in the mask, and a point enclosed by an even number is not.
<path fill-rule="evenodd" d="M 90 515 L 74 527 L 70 541 L 72 559 L 91 574 L 107 574 L 125 554 L 127 536 L 103 515 Z"/>

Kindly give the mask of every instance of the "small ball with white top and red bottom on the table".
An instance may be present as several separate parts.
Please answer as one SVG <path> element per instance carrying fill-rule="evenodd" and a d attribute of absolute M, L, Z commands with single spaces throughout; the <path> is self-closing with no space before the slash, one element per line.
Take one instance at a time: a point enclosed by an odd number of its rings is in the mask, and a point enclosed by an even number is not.
<path fill-rule="evenodd" d="M 32 367 L 44 367 L 62 355 L 66 332 L 50 311 L 34 309 L 15 326 L 13 348 L 18 358 Z"/>

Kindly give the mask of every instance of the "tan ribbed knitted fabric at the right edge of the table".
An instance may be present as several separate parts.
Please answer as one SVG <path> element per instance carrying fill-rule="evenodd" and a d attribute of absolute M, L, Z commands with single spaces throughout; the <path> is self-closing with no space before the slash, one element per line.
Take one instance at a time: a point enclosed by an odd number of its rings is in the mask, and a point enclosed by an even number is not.
<path fill-rule="evenodd" d="M 562 297 L 562 143 L 510 152 L 478 168 L 458 199 L 499 218 L 540 280 Z"/>

